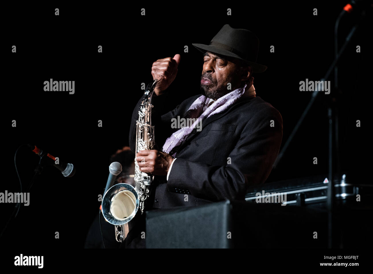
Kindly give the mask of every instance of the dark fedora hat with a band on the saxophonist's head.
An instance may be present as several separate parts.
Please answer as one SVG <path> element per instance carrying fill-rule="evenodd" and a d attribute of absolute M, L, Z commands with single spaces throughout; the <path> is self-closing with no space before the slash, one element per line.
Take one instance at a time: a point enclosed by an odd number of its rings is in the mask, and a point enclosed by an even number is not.
<path fill-rule="evenodd" d="M 257 64 L 259 39 L 247 29 L 234 29 L 228 24 L 211 39 L 210 45 L 192 44 L 202 52 L 233 57 L 253 67 L 253 72 L 263 72 L 266 66 Z"/>

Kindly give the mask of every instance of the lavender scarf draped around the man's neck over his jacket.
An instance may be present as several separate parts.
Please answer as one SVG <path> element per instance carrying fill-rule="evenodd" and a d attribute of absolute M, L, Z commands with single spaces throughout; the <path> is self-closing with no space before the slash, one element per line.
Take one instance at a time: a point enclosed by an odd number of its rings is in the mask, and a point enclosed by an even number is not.
<path fill-rule="evenodd" d="M 189 107 L 184 118 L 196 118 L 195 122 L 191 127 L 182 127 L 178 131 L 172 133 L 171 137 L 167 138 L 166 142 L 163 145 L 163 152 L 170 153 L 170 151 L 181 144 L 185 138 L 192 132 L 195 126 L 211 115 L 225 111 L 230 105 L 235 103 L 244 93 L 245 86 L 233 90 L 232 92 L 227 93 L 226 95 L 220 97 L 215 102 L 213 102 L 209 107 L 207 107 L 210 98 L 201 95 L 195 100 L 192 105 Z M 255 94 L 255 91 L 254 91 Z M 174 153 L 172 156 L 175 156 Z"/>

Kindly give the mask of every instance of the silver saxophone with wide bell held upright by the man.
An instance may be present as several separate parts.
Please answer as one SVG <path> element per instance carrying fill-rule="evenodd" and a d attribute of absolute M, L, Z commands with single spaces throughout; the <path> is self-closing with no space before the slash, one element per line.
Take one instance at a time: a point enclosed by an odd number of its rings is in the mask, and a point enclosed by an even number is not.
<path fill-rule="evenodd" d="M 145 89 L 136 122 L 136 155 L 141 150 L 154 149 L 154 125 L 151 125 L 151 98 L 157 80 Z M 144 212 L 145 200 L 149 197 L 153 176 L 140 171 L 135 155 L 135 187 L 120 183 L 113 185 L 104 194 L 101 211 L 105 220 L 115 225 L 115 238 L 122 242 L 132 229 L 130 222 L 140 208 Z"/>

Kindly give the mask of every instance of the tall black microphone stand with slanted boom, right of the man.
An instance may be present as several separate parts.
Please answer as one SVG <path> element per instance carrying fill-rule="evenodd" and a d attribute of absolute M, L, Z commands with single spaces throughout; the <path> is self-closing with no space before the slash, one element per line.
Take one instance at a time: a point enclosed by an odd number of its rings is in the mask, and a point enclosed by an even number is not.
<path fill-rule="evenodd" d="M 344 13 L 344 11 L 342 13 Z M 323 83 L 323 81 L 326 81 L 329 78 L 330 73 L 332 72 L 333 68 L 336 67 L 336 64 L 338 63 L 339 58 L 342 56 L 342 54 L 345 51 L 347 45 L 349 44 L 349 42 L 351 40 L 351 37 L 354 35 L 356 29 L 360 26 L 360 23 L 365 18 L 365 16 L 366 16 L 365 10 L 363 10 L 361 15 L 362 15 L 362 17 L 361 17 L 360 21 L 358 23 L 356 23 L 351 28 L 350 32 L 348 33 L 348 35 L 345 38 L 344 44 L 342 45 L 341 49 L 338 51 L 338 54 L 335 55 L 335 58 L 334 58 L 332 64 L 330 65 L 329 69 L 326 71 L 325 76 L 320 80 L 320 81 L 322 81 L 322 83 Z M 336 21 L 335 28 L 337 28 L 337 29 L 338 29 L 340 17 L 341 17 L 341 15 L 339 15 L 339 17 L 337 18 L 337 21 Z M 335 32 L 337 32 L 337 31 L 335 30 Z M 336 48 L 336 47 L 335 47 L 335 49 L 338 50 L 338 48 Z M 337 71 L 338 71 L 338 68 L 337 68 Z M 338 80 L 338 76 L 335 76 L 335 79 Z M 336 84 L 336 86 L 338 86 L 338 85 Z M 278 165 L 278 162 L 283 157 L 283 154 L 285 153 L 286 149 L 288 148 L 289 144 L 291 143 L 293 137 L 295 136 L 295 133 L 297 133 L 298 128 L 300 127 L 300 125 L 303 122 L 305 116 L 307 115 L 308 111 L 310 110 L 311 106 L 313 105 L 314 101 L 316 100 L 317 95 L 319 95 L 319 90 L 318 90 L 318 87 L 315 86 L 315 91 L 312 93 L 310 102 L 308 102 L 308 105 L 304 109 L 301 117 L 299 118 L 297 124 L 295 125 L 294 129 L 292 130 L 288 140 L 286 140 L 284 146 L 282 147 L 282 150 L 280 151 L 277 159 L 275 160 L 275 163 L 273 164 L 273 167 L 272 167 L 273 169 L 276 168 L 276 166 Z M 332 233 L 332 230 L 333 230 L 332 229 L 332 227 L 333 227 L 332 220 L 333 220 L 333 207 L 334 207 L 334 200 L 335 200 L 335 194 L 334 194 L 334 188 L 333 188 L 333 165 L 332 165 L 333 164 L 333 120 L 336 120 L 338 122 L 338 117 L 333 117 L 333 115 L 334 115 L 333 106 L 329 106 L 329 108 L 328 108 L 328 121 L 329 121 L 328 176 L 329 176 L 329 184 L 328 184 L 328 189 L 327 189 L 328 248 L 332 248 L 334 246 L 334 242 L 333 242 L 333 239 L 332 239 L 332 235 L 333 235 L 333 233 Z M 335 126 L 336 126 L 336 134 L 337 134 L 338 133 L 338 125 L 336 124 Z M 335 136 L 335 138 L 336 138 L 336 141 L 338 141 L 338 136 Z M 339 151 L 338 142 L 336 142 L 336 151 L 337 152 Z"/>

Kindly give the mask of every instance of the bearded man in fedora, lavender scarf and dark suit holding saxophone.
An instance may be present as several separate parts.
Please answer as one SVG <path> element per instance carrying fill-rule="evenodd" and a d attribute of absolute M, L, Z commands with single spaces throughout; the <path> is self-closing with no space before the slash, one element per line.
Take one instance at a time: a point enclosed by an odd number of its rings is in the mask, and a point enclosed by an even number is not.
<path fill-rule="evenodd" d="M 244 200 L 249 186 L 266 181 L 279 152 L 282 117 L 256 96 L 253 86 L 252 73 L 267 68 L 256 63 L 257 36 L 224 25 L 209 45 L 192 45 L 204 53 L 202 95 L 166 112 L 165 106 L 175 96 L 169 86 L 176 77 L 180 55 L 157 60 L 151 70 L 153 79 L 159 79 L 151 117 L 157 150 L 137 154 L 140 170 L 156 178 L 148 210 Z M 140 103 L 141 98 L 132 115 L 132 151 Z M 175 121 L 183 119 L 194 120 L 175 128 Z"/>

